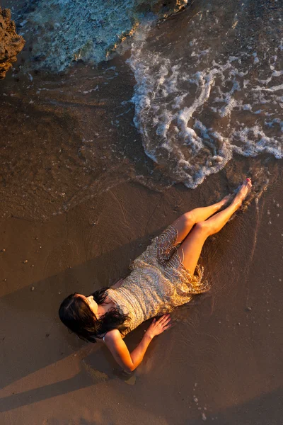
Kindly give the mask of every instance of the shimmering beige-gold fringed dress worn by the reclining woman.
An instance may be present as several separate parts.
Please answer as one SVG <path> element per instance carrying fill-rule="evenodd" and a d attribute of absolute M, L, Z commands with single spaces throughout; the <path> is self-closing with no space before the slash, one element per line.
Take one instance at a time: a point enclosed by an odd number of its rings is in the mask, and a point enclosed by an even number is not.
<path fill-rule="evenodd" d="M 129 331 L 151 317 L 171 312 L 192 299 L 192 295 L 209 289 L 202 282 L 203 269 L 196 268 L 192 276 L 180 259 L 173 226 L 155 237 L 143 254 L 135 259 L 131 273 L 119 288 L 108 289 L 108 297 L 118 309 L 128 314 Z"/>

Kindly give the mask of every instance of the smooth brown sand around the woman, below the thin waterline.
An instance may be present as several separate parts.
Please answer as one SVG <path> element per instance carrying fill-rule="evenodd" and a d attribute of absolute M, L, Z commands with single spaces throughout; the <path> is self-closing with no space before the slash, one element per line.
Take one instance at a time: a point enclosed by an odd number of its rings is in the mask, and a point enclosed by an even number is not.
<path fill-rule="evenodd" d="M 65 295 L 125 276 L 152 235 L 215 199 L 220 182 L 159 194 L 121 183 L 47 222 L 1 222 L 1 423 L 282 424 L 282 179 L 207 242 L 212 290 L 173 313 L 129 382 L 57 317 Z"/>

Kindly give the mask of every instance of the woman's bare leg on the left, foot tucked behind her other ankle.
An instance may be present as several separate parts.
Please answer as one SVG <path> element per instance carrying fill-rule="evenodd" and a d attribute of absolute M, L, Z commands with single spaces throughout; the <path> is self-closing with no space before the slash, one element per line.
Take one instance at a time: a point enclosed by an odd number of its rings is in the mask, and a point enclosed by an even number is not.
<path fill-rule="evenodd" d="M 225 198 L 213 205 L 203 208 L 195 208 L 195 210 L 185 212 L 185 214 L 181 215 L 177 220 L 175 220 L 175 222 L 172 223 L 178 230 L 178 238 L 175 243 L 180 244 L 180 242 L 183 242 L 196 223 L 207 220 L 208 217 L 219 211 L 220 208 L 223 207 L 230 199 L 231 195 L 227 195 Z"/>

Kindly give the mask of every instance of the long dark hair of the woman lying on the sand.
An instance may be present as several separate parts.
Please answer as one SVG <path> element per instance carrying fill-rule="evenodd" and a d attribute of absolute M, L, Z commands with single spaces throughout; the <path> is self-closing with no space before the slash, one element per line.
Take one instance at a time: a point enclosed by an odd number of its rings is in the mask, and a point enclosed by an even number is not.
<path fill-rule="evenodd" d="M 91 294 L 98 305 L 105 302 L 108 289 L 96 290 Z M 97 338 L 103 338 L 112 329 L 118 329 L 121 334 L 127 333 L 128 327 L 125 324 L 128 319 L 127 314 L 123 314 L 115 307 L 97 319 L 88 302 L 76 295 L 77 293 L 74 293 L 64 299 L 59 307 L 59 317 L 79 338 L 84 341 L 96 342 Z"/>

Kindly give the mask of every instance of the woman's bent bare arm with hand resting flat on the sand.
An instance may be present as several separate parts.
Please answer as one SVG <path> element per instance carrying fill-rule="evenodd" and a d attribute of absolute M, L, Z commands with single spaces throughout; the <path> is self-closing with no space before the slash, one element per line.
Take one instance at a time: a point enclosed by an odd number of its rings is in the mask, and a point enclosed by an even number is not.
<path fill-rule="evenodd" d="M 127 372 L 131 373 L 137 366 L 141 363 L 144 358 L 144 354 L 151 343 L 154 336 L 161 334 L 163 331 L 171 327 L 170 324 L 170 315 L 166 314 L 160 319 L 154 319 L 144 334 L 143 339 L 139 345 L 134 348 L 132 353 L 129 353 L 129 350 L 122 340 L 121 334 L 118 329 L 113 329 L 105 335 L 105 344 L 110 349 L 115 361 Z"/>

